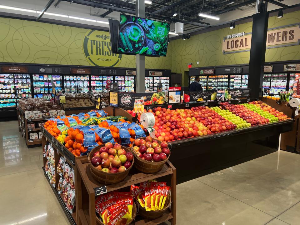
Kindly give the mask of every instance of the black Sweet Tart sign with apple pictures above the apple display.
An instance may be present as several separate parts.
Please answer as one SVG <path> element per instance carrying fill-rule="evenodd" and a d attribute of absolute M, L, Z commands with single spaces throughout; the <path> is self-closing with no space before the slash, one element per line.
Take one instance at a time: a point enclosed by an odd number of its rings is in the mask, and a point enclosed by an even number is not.
<path fill-rule="evenodd" d="M 211 91 L 186 91 L 183 93 L 183 100 L 185 103 L 189 102 L 203 102 L 217 99 L 217 90 Z"/>

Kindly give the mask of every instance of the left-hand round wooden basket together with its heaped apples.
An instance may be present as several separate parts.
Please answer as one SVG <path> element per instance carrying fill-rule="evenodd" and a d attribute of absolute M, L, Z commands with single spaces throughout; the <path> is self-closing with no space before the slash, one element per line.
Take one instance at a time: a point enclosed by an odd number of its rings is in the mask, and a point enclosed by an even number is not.
<path fill-rule="evenodd" d="M 134 163 L 130 150 L 110 142 L 94 148 L 88 155 L 89 168 L 95 180 L 104 184 L 123 181 Z"/>

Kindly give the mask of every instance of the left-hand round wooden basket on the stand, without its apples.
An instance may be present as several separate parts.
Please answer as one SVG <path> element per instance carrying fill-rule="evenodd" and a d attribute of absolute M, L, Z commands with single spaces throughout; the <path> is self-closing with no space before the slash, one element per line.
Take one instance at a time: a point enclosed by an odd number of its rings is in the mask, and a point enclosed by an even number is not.
<path fill-rule="evenodd" d="M 134 164 L 134 158 L 131 162 L 131 166 L 125 170 L 124 172 L 120 172 L 120 173 L 105 173 L 101 170 L 96 169 L 93 164 L 91 163 L 91 158 L 93 157 L 93 154 L 98 151 L 100 148 L 102 148 L 103 146 L 105 146 L 105 144 L 99 145 L 95 148 L 93 148 L 92 151 L 90 151 L 90 153 L 88 153 L 88 162 L 89 162 L 89 168 L 91 171 L 91 174 L 93 176 L 93 178 L 95 180 L 97 180 L 100 183 L 104 183 L 104 184 L 114 184 L 114 183 L 118 183 L 123 181 L 128 173 L 129 170 L 132 168 L 133 164 Z M 125 149 L 126 152 L 130 152 L 130 150 L 124 146 L 122 146 L 123 149 Z"/>

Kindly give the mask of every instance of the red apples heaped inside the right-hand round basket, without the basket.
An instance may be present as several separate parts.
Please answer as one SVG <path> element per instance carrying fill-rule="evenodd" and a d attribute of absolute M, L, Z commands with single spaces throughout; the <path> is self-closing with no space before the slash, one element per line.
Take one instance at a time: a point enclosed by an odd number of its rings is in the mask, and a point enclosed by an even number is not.
<path fill-rule="evenodd" d="M 170 149 L 168 143 L 163 141 L 158 143 L 157 140 L 153 140 L 148 136 L 144 139 L 136 139 L 133 142 L 133 152 L 140 158 L 150 162 L 164 161 L 170 155 Z"/>

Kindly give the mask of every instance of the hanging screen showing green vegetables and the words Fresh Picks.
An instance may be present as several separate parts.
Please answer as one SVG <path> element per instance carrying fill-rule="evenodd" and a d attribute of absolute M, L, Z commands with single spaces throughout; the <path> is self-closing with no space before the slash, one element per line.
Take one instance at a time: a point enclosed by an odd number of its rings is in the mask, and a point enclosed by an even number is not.
<path fill-rule="evenodd" d="M 121 14 L 118 52 L 166 56 L 169 31 L 169 23 Z"/>

